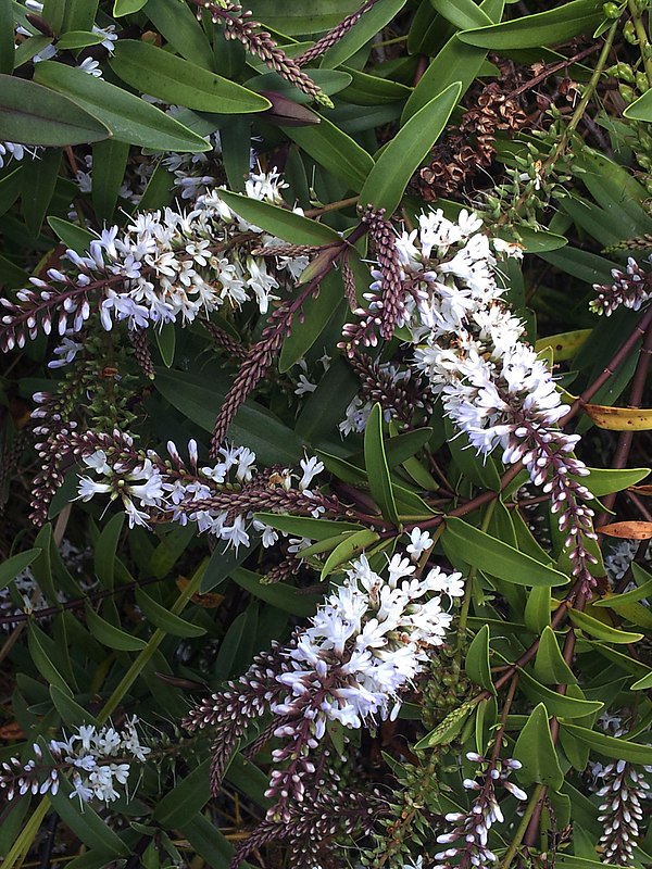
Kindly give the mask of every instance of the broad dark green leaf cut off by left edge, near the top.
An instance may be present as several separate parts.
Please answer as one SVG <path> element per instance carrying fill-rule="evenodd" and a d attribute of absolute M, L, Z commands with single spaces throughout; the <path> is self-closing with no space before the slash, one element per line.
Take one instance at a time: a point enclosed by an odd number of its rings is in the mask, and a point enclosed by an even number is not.
<path fill-rule="evenodd" d="M 61 148 L 97 142 L 111 135 L 97 117 L 66 97 L 35 81 L 8 75 L 0 75 L 0 118 L 2 137 L 23 144 Z"/>

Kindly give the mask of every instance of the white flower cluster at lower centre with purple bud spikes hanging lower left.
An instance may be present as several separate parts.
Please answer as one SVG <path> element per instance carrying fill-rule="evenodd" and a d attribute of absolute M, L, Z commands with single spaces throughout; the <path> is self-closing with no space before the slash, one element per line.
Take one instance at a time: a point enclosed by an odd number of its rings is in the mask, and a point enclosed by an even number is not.
<path fill-rule="evenodd" d="M 415 537 L 415 543 L 425 541 Z M 271 711 L 276 722 L 269 735 L 285 745 L 273 752 L 266 795 L 275 798 L 271 817 L 283 818 L 290 798 L 304 799 L 316 769 L 311 755 L 328 722 L 361 728 L 398 716 L 402 694 L 444 642 L 452 621 L 444 601 L 462 594 L 460 574 L 435 567 L 419 578 L 401 554 L 389 562 L 387 578 L 364 555 L 353 562 L 290 645 L 259 656 L 238 681 L 191 710 L 190 730 L 217 728 L 214 788 L 251 719 Z"/>

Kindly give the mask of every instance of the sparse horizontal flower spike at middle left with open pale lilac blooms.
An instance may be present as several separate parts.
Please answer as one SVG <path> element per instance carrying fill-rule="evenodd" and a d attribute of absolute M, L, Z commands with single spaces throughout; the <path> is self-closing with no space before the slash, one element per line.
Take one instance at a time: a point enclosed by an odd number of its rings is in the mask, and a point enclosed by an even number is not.
<path fill-rule="evenodd" d="M 315 457 L 301 459 L 301 476 L 289 468 L 265 476 L 258 471 L 255 454 L 247 446 L 223 446 L 217 462 L 200 466 L 193 440 L 188 443 L 188 464 L 172 441 L 168 459 L 153 450 L 136 450 L 133 438 L 120 432 L 84 438 L 62 434 L 59 442 L 62 452 L 72 452 L 88 471 L 79 479 L 77 499 L 120 499 L 130 528 L 149 527 L 152 521 L 197 522 L 200 533 L 205 531 L 237 551 L 250 545 L 252 531 L 262 536 L 264 546 L 277 540 L 273 528 L 253 518 L 256 509 L 303 508 L 316 516 L 326 509 L 310 489 L 324 470 Z"/>

